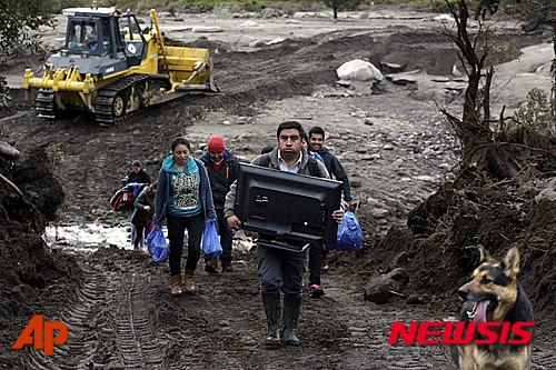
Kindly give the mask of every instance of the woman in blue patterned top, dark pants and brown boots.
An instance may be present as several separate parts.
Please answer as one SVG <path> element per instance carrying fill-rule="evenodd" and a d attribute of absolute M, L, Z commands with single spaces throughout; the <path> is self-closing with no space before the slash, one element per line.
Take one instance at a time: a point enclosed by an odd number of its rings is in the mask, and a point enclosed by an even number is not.
<path fill-rule="evenodd" d="M 167 220 L 170 240 L 171 294 L 181 296 L 181 253 L 187 229 L 186 292 L 196 291 L 193 273 L 200 258 L 200 243 L 205 224 L 216 219 L 210 180 L 203 163 L 191 156 L 191 144 L 183 137 L 171 142 L 171 154 L 158 176 L 155 198 L 155 228 Z"/>

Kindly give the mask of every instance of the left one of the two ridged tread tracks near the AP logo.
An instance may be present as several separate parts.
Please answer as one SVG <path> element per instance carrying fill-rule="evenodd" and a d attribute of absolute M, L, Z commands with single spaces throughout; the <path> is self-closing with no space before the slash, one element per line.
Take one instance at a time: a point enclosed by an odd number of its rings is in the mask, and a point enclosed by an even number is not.
<path fill-rule="evenodd" d="M 26 369 L 91 369 L 92 358 L 101 347 L 99 331 L 107 321 L 103 318 L 107 277 L 91 268 L 83 269 L 82 283 L 70 298 L 59 320 L 68 327 L 68 341 L 54 346 L 54 354 L 46 357 L 42 351 L 29 350 L 24 358 Z"/>

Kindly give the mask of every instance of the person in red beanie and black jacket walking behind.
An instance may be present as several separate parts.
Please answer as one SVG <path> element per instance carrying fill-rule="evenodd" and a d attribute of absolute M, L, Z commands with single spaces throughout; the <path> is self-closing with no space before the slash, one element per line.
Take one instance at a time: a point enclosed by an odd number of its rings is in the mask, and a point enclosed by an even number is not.
<path fill-rule="evenodd" d="M 221 136 L 214 136 L 208 140 L 207 151 L 199 159 L 205 163 L 210 180 L 210 188 L 212 189 L 212 200 L 218 220 L 218 233 L 220 234 L 220 244 L 222 246 L 222 254 L 220 254 L 222 272 L 232 272 L 231 244 L 234 236 L 224 219 L 224 203 L 231 184 L 238 179 L 239 161 L 236 156 L 226 149 Z M 205 256 L 205 271 L 217 273 L 216 256 Z"/>

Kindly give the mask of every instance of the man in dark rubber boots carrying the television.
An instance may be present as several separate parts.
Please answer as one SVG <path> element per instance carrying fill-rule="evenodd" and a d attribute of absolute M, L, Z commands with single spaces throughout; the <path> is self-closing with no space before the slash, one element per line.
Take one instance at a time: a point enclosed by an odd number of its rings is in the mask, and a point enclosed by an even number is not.
<path fill-rule="evenodd" d="M 299 122 L 286 121 L 280 123 L 277 130 L 278 146 L 269 154 L 257 157 L 251 164 L 264 166 L 268 163 L 266 167 L 271 169 L 311 176 L 309 156 L 301 146 L 302 134 L 304 129 Z M 265 156 L 269 156 L 269 158 L 265 158 Z M 318 177 L 328 178 L 326 167 L 320 161 L 315 162 L 318 166 Z M 236 193 L 237 182 L 231 186 L 226 196 L 225 218 L 230 228 L 240 229 L 241 221 L 235 212 Z M 338 223 L 341 222 L 344 210 L 334 211 L 332 217 Z M 265 236 L 260 234 L 259 240 L 264 239 Z M 309 250 L 312 249 L 309 248 Z M 265 344 L 267 347 L 280 346 L 281 319 L 284 321 L 284 343 L 286 346 L 299 346 L 297 323 L 304 291 L 307 249 L 294 251 L 258 244 L 257 259 L 262 306 L 268 324 L 268 336 L 265 339 Z M 281 309 L 280 290 L 284 292 L 284 311 Z"/>

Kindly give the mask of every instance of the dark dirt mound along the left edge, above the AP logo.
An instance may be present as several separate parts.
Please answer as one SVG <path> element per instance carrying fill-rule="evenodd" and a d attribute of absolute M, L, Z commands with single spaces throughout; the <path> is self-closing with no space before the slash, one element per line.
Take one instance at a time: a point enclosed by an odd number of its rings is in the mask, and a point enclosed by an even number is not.
<path fill-rule="evenodd" d="M 0 173 L 12 182 L 0 186 L 0 346 L 10 348 L 34 313 L 47 313 L 62 302 L 49 301 L 49 292 L 68 287 L 79 277 L 72 258 L 51 253 L 41 239 L 63 200 L 60 183 L 50 172 L 44 148 L 34 148 L 18 160 L 0 154 Z M 60 287 L 53 284 L 61 283 Z M 10 341 L 9 343 L 7 341 Z M 16 354 L 16 353 L 7 353 Z M 12 366 L 0 356 L 0 366 Z"/>

